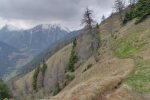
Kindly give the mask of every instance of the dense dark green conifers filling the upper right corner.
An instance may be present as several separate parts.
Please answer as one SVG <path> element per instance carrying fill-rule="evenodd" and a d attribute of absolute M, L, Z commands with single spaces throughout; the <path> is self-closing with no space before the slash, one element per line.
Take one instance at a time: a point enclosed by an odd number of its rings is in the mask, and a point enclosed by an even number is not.
<path fill-rule="evenodd" d="M 135 3 L 135 2 L 134 2 Z M 130 5 L 131 10 L 126 13 L 123 23 L 126 24 L 128 21 L 137 18 L 137 22 L 144 20 L 150 15 L 150 0 L 138 0 L 136 4 Z"/>

